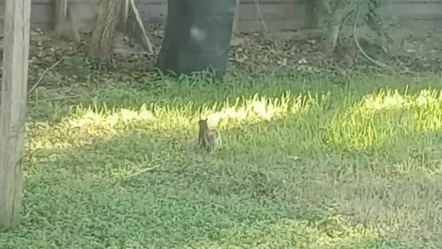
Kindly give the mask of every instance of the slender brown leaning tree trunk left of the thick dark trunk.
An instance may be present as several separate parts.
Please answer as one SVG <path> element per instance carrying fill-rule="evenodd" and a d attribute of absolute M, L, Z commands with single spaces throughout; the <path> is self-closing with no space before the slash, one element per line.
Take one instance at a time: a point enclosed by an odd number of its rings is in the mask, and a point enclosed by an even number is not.
<path fill-rule="evenodd" d="M 121 0 L 101 0 L 97 15 L 97 22 L 92 34 L 89 47 L 89 57 L 106 60 L 111 54 L 113 37 L 121 15 Z"/>

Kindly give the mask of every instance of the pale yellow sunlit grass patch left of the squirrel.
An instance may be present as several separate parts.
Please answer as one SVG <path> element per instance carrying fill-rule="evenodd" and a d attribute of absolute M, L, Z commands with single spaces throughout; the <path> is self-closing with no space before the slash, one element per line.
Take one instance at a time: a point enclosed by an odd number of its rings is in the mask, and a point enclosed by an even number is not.
<path fill-rule="evenodd" d="M 77 107 L 73 116 L 61 122 L 33 122 L 28 124 L 29 151 L 39 149 L 66 149 L 80 147 L 105 136 L 115 136 L 123 131 L 133 131 L 137 127 L 153 122 L 151 111 L 145 106 L 138 110 L 112 110 Z"/>

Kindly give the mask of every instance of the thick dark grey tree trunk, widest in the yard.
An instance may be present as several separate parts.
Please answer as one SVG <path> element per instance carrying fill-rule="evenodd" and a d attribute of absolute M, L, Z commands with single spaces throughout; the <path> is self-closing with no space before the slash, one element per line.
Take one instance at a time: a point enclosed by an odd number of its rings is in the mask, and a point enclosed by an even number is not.
<path fill-rule="evenodd" d="M 229 60 L 236 0 L 169 0 L 157 67 L 167 73 L 210 71 L 222 78 Z"/>

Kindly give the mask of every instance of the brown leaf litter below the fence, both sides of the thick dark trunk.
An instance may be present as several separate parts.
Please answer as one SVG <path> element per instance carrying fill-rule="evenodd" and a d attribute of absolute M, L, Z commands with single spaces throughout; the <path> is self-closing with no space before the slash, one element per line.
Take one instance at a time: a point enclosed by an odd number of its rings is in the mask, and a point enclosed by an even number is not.
<path fill-rule="evenodd" d="M 86 56 L 90 34 L 82 33 L 81 44 L 75 44 L 73 41 L 44 33 L 39 29 L 32 30 L 29 87 L 32 87 L 32 82 L 36 82 L 41 73 L 62 57 L 65 57 L 64 61 L 48 71 L 41 82 L 42 86 L 78 82 L 80 77 L 103 77 L 107 73 L 121 75 L 130 71 L 146 71 L 146 68 L 153 66 L 157 53 L 160 51 L 164 26 L 149 27 L 148 35 L 153 42 L 155 55 L 147 55 L 134 49 L 124 36 L 117 35 L 114 53 L 108 61 L 111 63 L 96 64 L 90 62 Z M 239 69 L 253 73 L 276 71 L 282 68 L 304 73 L 348 75 L 381 69 L 363 58 L 357 48 L 352 45 L 351 39 L 347 39 L 347 44 L 343 44 L 342 41 L 345 39 L 341 39 L 341 44 L 336 47 L 336 55 L 327 57 L 322 52 L 322 37 L 323 35 L 318 35 L 318 33 L 306 35 L 302 32 L 235 35 L 231 40 L 229 62 L 233 70 Z M 434 35 L 426 35 L 423 38 L 416 37 L 416 35 L 403 37 L 400 42 L 403 53 L 391 55 L 387 58 L 389 61 L 383 62 L 394 68 L 400 68 L 401 71 L 440 72 L 442 71 L 441 43 L 433 42 L 435 45 L 429 46 L 432 38 Z M 427 46 L 425 51 L 422 51 L 423 45 Z M 367 53 L 369 52 L 367 48 Z"/>

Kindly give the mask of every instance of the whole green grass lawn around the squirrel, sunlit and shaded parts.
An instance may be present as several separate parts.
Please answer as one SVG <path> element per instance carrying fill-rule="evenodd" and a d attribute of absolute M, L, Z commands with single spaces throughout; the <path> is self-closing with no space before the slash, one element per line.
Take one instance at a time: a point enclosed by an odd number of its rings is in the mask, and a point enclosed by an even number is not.
<path fill-rule="evenodd" d="M 440 248 L 441 88 L 240 75 L 38 89 L 23 221 L 0 248 Z M 59 95 L 80 97 L 41 100 Z M 206 117 L 224 138 L 211 155 L 194 148 Z"/>

